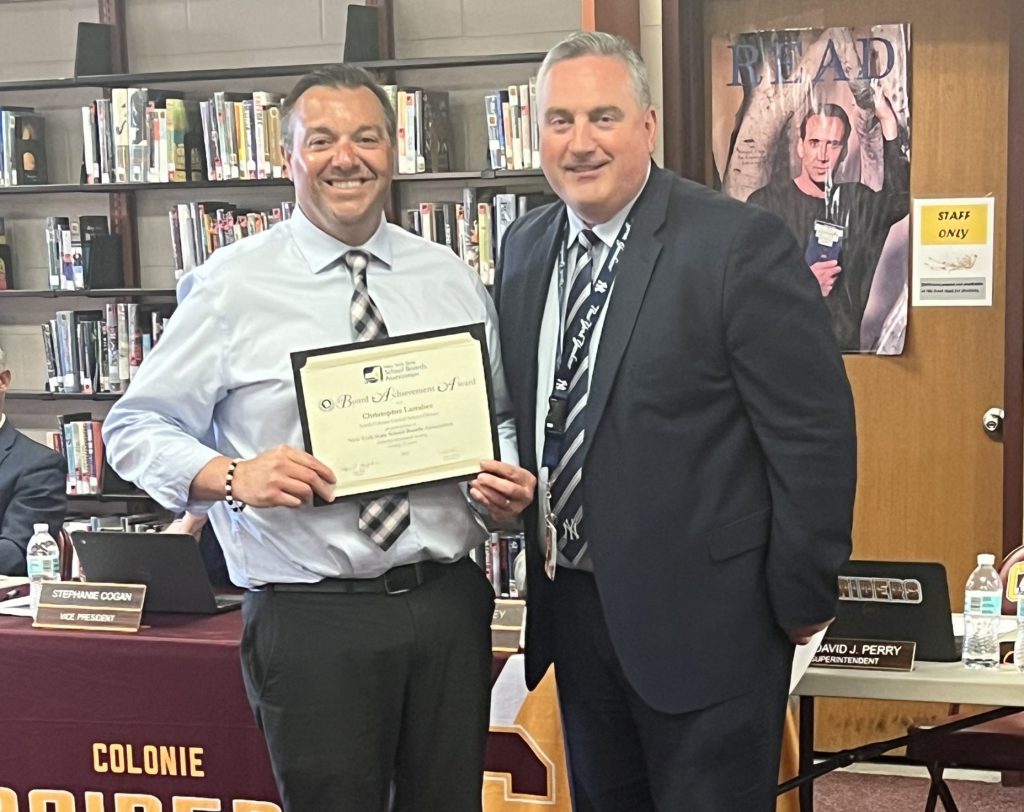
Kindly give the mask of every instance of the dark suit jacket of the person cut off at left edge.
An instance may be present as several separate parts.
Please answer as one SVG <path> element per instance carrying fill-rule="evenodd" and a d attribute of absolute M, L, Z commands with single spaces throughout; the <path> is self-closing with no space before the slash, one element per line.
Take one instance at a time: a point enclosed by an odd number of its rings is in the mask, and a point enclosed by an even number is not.
<path fill-rule="evenodd" d="M 10 425 L 0 428 L 0 574 L 25 574 L 32 525 L 45 521 L 55 539 L 68 497 L 63 457 Z"/>

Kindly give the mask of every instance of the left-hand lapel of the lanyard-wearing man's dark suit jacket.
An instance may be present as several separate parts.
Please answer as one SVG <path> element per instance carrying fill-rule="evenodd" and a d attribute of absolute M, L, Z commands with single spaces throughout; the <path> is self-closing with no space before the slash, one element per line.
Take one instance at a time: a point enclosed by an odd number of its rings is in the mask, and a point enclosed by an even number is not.
<path fill-rule="evenodd" d="M 551 274 L 554 272 L 555 260 L 558 254 L 559 238 L 562 232 L 562 224 L 565 222 L 565 207 L 553 206 L 548 222 L 543 226 L 541 238 L 529 252 L 526 264 L 523 268 L 523 312 L 522 317 L 516 324 L 523 325 L 525 329 L 521 331 L 523 342 L 523 357 L 525 358 L 526 380 L 522 382 L 519 390 L 524 397 L 529 398 L 526 409 L 520 410 L 520 414 L 527 414 L 529 420 L 522 421 L 519 426 L 519 436 L 522 442 L 519 446 L 519 456 L 524 463 L 531 463 L 526 467 L 536 470 L 539 461 L 537 455 L 537 401 L 536 392 L 538 386 L 551 385 L 550 382 L 538 381 L 538 354 L 541 341 L 541 323 L 544 318 L 544 306 L 548 300 L 548 290 L 551 287 Z"/>

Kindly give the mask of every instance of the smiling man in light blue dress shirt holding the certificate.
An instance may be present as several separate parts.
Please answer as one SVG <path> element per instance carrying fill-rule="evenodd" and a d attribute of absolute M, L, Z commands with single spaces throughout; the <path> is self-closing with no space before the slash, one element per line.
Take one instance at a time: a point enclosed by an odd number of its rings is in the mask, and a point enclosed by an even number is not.
<path fill-rule="evenodd" d="M 231 580 L 249 588 L 246 690 L 285 808 L 478 810 L 494 592 L 467 553 L 483 538 L 458 484 L 409 493 L 386 549 L 333 503 L 301 451 L 289 353 L 346 344 L 364 252 L 390 336 L 483 323 L 504 462 L 469 493 L 498 520 L 534 497 L 489 297 L 446 248 L 387 223 L 395 116 L 359 69 L 296 84 L 283 110 L 293 217 L 223 248 L 179 287 L 167 331 L 104 426 L 114 468 L 173 510 L 208 513 Z"/>

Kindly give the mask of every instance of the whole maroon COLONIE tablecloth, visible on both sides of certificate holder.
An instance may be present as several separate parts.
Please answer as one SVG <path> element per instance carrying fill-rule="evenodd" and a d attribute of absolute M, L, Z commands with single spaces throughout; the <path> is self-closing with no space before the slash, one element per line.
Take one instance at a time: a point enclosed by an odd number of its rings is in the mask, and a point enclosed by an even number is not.
<path fill-rule="evenodd" d="M 29 810 L 33 790 L 32 809 L 53 812 L 113 810 L 115 794 L 132 796 L 117 806 L 132 812 L 170 812 L 175 799 L 178 812 L 280 812 L 241 631 L 238 611 L 147 614 L 135 634 L 0 616 L 0 812 Z M 527 693 L 521 672 L 521 656 L 495 660 L 484 808 L 567 809 L 552 675 Z"/>

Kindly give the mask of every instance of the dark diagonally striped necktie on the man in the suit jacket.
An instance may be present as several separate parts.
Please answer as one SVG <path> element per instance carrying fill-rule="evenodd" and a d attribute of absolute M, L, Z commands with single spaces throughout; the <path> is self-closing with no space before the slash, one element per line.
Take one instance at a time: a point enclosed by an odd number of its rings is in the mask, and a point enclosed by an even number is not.
<path fill-rule="evenodd" d="M 580 232 L 580 248 L 573 263 L 569 294 L 565 300 L 563 347 L 571 345 L 577 318 L 590 298 L 593 252 L 597 245 L 598 238 L 593 231 Z M 588 354 L 583 355 L 580 366 L 572 371 L 565 403 L 565 433 L 562 435 L 561 455 L 550 477 L 551 509 L 558 517 L 558 547 L 562 555 L 572 563 L 578 563 L 587 550 L 583 535 L 583 428 L 590 384 Z"/>

